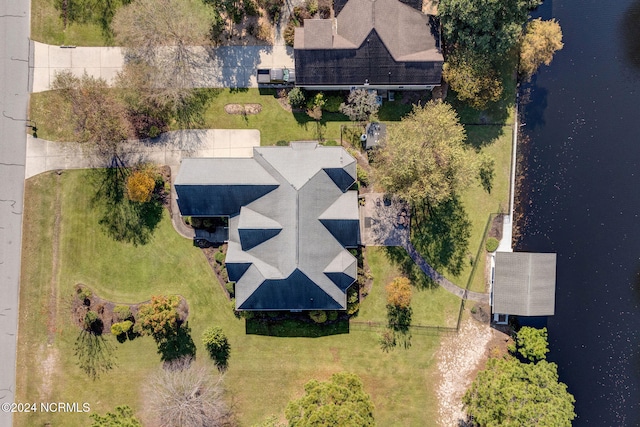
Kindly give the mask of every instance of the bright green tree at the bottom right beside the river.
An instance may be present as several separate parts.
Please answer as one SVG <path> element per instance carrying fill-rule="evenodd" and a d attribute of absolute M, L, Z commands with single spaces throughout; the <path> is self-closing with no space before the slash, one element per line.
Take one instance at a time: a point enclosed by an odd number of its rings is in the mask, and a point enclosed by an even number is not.
<path fill-rule="evenodd" d="M 575 399 L 558 381 L 558 368 L 542 360 L 490 358 L 462 399 L 481 426 L 570 427 Z"/>

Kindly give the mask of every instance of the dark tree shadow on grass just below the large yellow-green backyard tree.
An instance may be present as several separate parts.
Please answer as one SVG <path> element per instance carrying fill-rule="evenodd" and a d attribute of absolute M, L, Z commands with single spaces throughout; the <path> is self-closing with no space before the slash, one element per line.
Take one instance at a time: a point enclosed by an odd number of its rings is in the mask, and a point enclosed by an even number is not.
<path fill-rule="evenodd" d="M 454 197 L 438 206 L 422 204 L 413 209 L 411 241 L 437 271 L 454 276 L 464 269 L 471 237 L 471 221 Z"/>

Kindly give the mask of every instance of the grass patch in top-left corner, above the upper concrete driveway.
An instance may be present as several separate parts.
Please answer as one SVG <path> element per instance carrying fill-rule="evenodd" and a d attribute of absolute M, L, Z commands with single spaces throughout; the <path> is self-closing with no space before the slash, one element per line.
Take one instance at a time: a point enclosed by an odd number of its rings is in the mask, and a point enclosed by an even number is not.
<path fill-rule="evenodd" d="M 54 0 L 31 1 L 31 39 L 52 45 L 110 46 L 100 25 L 70 23 L 64 28 Z"/>

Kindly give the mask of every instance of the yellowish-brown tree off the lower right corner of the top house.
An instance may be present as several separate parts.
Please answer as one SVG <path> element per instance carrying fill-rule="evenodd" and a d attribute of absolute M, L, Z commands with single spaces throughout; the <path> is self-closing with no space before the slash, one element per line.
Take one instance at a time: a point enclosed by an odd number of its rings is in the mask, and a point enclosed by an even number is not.
<path fill-rule="evenodd" d="M 467 51 L 449 55 L 442 75 L 458 98 L 477 110 L 484 109 L 502 96 L 502 81 L 492 64 Z"/>

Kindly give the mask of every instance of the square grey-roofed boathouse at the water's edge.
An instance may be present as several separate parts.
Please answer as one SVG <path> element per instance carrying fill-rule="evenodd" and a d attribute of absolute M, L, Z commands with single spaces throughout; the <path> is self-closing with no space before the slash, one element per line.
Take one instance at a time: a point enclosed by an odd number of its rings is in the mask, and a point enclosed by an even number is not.
<path fill-rule="evenodd" d="M 556 254 L 497 252 L 492 286 L 492 311 L 496 323 L 517 315 L 526 323 L 552 316 L 556 296 Z"/>

